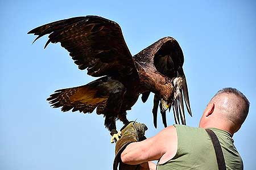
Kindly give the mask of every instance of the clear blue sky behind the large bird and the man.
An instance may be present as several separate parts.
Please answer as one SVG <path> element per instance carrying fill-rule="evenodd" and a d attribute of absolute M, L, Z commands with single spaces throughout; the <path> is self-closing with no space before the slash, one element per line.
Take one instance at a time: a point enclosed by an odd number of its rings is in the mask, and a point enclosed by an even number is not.
<path fill-rule="evenodd" d="M 93 80 L 59 44 L 43 49 L 27 32 L 73 16 L 100 15 L 121 25 L 132 54 L 164 36 L 183 49 L 193 117 L 198 126 L 210 97 L 235 87 L 250 100 L 249 116 L 234 135 L 245 169 L 255 169 L 255 1 L 0 1 L 0 169 L 112 169 L 114 145 L 104 118 L 62 113 L 46 98 L 55 90 Z M 139 99 L 129 120 L 152 123 L 152 95 Z M 174 124 L 172 113 L 168 125 Z M 159 117 L 160 118 L 160 117 Z M 121 128 L 118 122 L 118 128 Z M 168 141 L 167 141 L 168 142 Z"/>

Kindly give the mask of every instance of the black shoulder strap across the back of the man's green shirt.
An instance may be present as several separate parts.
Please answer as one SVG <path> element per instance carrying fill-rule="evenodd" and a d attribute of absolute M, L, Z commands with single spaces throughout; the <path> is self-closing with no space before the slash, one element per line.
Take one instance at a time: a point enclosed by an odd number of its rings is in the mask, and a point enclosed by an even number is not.
<path fill-rule="evenodd" d="M 205 130 L 210 136 L 210 139 L 212 139 L 213 147 L 217 157 L 218 170 L 226 170 L 225 159 L 223 156 L 223 152 L 221 150 L 220 142 L 218 141 L 216 134 L 210 129 L 205 129 Z"/>

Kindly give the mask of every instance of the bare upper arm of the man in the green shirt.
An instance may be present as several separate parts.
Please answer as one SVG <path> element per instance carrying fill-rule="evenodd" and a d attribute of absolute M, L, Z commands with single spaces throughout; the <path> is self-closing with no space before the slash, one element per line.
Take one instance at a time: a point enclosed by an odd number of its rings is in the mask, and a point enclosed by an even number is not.
<path fill-rule="evenodd" d="M 126 164 L 141 164 L 151 160 L 167 162 L 177 152 L 177 132 L 174 126 L 169 126 L 154 137 L 141 142 L 130 143 L 121 154 L 121 160 Z"/>

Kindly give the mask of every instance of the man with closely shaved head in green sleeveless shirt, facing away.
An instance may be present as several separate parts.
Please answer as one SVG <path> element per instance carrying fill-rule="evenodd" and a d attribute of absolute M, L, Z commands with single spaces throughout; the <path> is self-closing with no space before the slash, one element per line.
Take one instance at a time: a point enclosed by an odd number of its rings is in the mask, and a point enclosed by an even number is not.
<path fill-rule="evenodd" d="M 152 138 L 130 143 L 121 160 L 126 164 L 141 164 L 141 169 L 218 169 L 212 141 L 205 131 L 210 129 L 220 141 L 226 169 L 243 169 L 232 137 L 245 121 L 249 105 L 240 91 L 224 88 L 208 103 L 199 128 L 169 126 Z M 158 164 L 151 160 L 158 160 Z"/>

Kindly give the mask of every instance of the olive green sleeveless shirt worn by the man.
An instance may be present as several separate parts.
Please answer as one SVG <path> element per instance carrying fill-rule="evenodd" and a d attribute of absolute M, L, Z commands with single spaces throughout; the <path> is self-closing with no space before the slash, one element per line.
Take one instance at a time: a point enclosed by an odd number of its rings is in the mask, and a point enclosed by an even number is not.
<path fill-rule="evenodd" d="M 168 162 L 157 165 L 158 170 L 196 169 L 217 170 L 217 159 L 210 137 L 203 128 L 175 125 L 177 130 L 177 153 Z M 228 131 L 210 128 L 217 135 L 225 158 L 226 169 L 243 169 L 240 154 Z"/>

